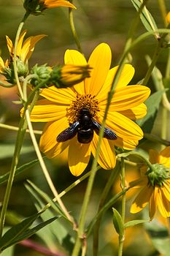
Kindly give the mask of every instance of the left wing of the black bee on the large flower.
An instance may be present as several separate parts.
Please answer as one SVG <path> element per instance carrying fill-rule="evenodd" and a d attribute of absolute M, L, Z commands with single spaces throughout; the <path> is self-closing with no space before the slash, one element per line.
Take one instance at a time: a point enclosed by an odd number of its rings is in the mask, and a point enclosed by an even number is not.
<path fill-rule="evenodd" d="M 76 134 L 79 127 L 79 121 L 76 121 L 74 124 L 71 124 L 69 128 L 66 128 L 61 132 L 58 137 L 58 142 L 64 142 L 66 140 L 71 140 Z"/>

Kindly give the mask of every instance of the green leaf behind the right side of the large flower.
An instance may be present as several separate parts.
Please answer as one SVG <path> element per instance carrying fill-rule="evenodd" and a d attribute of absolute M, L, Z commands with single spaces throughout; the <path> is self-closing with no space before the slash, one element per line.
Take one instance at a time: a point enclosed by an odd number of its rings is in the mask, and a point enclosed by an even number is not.
<path fill-rule="evenodd" d="M 164 92 L 165 90 L 156 91 L 146 100 L 145 104 L 147 105 L 147 115 L 144 116 L 144 118 L 136 121 L 136 124 L 139 124 L 139 126 L 142 127 L 142 130 L 146 133 L 150 133 L 152 131 Z"/>

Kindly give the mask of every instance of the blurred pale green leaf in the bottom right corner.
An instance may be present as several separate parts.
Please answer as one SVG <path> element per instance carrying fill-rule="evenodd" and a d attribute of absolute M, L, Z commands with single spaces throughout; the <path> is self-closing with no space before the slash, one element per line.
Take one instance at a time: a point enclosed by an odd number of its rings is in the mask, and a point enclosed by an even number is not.
<path fill-rule="evenodd" d="M 163 256 L 169 256 L 170 238 L 168 229 L 161 225 L 156 219 L 152 222 L 144 224 L 152 240 L 152 245 Z"/>

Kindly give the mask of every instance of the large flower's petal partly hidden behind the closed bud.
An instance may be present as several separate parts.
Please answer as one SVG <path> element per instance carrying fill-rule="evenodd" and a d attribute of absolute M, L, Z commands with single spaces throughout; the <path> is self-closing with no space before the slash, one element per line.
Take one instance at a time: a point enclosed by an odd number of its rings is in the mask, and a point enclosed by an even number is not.
<path fill-rule="evenodd" d="M 87 61 L 85 57 L 78 50 L 66 50 L 64 55 L 64 63 L 65 64 L 74 64 L 74 65 L 86 65 Z M 85 94 L 85 86 L 84 81 L 81 83 L 77 83 L 74 86 L 74 89 L 78 94 Z"/>

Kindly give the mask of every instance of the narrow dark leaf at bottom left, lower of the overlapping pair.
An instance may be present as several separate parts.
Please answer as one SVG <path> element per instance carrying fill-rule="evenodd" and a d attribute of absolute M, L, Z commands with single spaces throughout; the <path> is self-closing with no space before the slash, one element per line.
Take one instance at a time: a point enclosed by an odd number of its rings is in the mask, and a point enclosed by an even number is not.
<path fill-rule="evenodd" d="M 6 249 L 9 246 L 12 246 L 13 244 L 17 244 L 18 242 L 23 241 L 23 240 L 29 238 L 30 236 L 34 235 L 37 231 L 41 230 L 42 227 L 45 227 L 45 226 L 49 225 L 51 222 L 55 221 L 55 219 L 57 219 L 57 218 L 58 217 L 53 217 L 51 219 L 48 219 L 45 222 L 40 223 L 39 225 L 36 225 L 36 227 L 33 227 L 30 230 L 27 230 L 21 236 L 18 236 L 14 240 L 12 240 L 9 244 L 7 244 L 7 246 L 3 246 L 2 250 Z"/>

